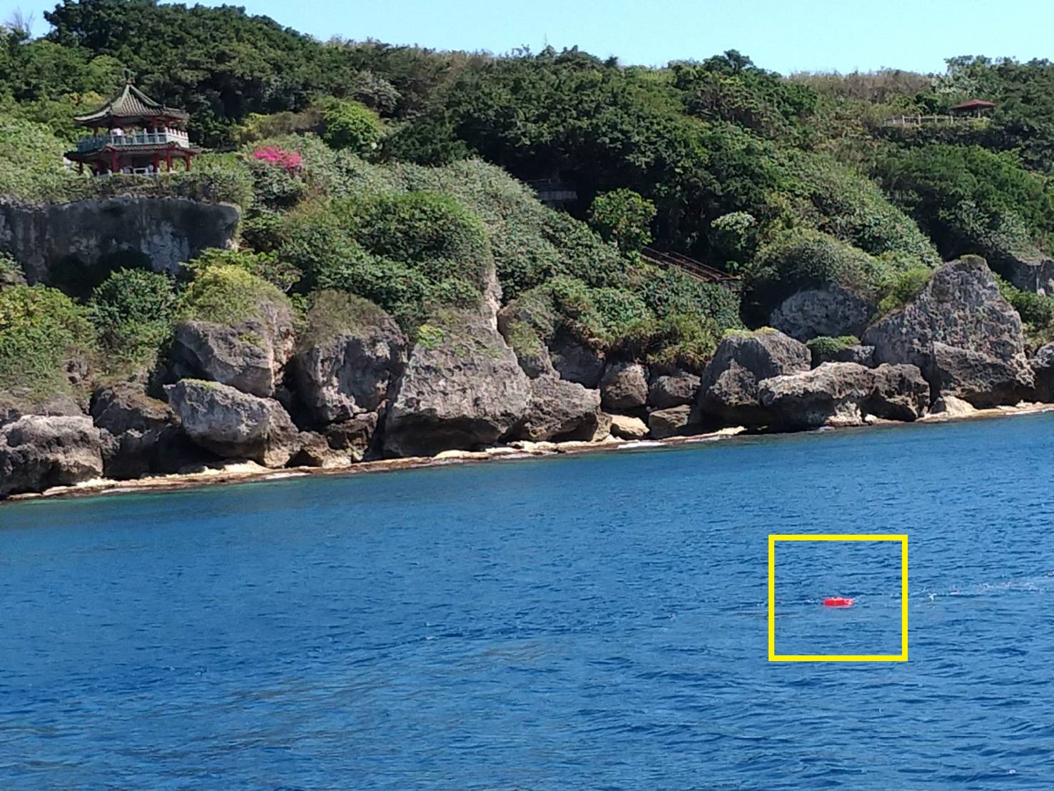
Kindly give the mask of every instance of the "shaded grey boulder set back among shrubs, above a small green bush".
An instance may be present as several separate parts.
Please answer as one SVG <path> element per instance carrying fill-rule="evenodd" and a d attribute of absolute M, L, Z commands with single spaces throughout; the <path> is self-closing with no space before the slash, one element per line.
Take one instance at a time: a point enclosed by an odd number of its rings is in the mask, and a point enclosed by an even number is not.
<path fill-rule="evenodd" d="M 769 324 L 797 341 L 820 335 L 860 335 L 875 312 L 875 305 L 852 289 L 828 283 L 798 291 L 776 308 Z"/>

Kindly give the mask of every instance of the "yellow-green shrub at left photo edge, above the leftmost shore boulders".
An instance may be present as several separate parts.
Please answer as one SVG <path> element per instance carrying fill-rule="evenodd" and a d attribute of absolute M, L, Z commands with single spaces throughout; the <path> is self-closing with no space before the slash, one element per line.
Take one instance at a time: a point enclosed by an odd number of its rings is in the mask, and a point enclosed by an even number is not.
<path fill-rule="evenodd" d="M 0 291 L 0 393 L 35 401 L 66 392 L 66 364 L 89 361 L 95 332 L 87 311 L 56 289 L 12 286 Z"/>

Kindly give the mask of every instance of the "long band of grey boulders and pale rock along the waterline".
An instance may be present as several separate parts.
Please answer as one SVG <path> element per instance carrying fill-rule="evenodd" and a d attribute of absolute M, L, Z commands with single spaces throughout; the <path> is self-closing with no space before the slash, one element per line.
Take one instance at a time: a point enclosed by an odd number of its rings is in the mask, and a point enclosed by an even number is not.
<path fill-rule="evenodd" d="M 278 302 L 234 326 L 182 322 L 150 377 L 97 387 L 86 410 L 70 400 L 0 410 L 0 498 L 983 417 L 1054 401 L 1054 344 L 1027 354 L 1020 317 L 974 256 L 937 269 L 857 346 L 816 353 L 778 329 L 733 331 L 696 371 L 606 356 L 546 331 L 516 302 L 499 310 L 492 270 L 483 293 L 413 340 L 376 306 L 336 293 L 306 327 Z M 795 294 L 774 319 L 790 331 L 818 312 L 836 330 L 858 321 L 818 293 Z"/>

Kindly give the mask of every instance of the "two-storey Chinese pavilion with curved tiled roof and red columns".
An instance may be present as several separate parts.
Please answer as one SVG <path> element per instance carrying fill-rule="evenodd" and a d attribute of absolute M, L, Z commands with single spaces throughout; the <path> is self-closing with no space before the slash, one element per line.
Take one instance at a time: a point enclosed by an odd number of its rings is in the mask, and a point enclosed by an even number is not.
<path fill-rule="evenodd" d="M 191 169 L 191 158 L 201 149 L 191 146 L 186 124 L 190 116 L 151 99 L 137 89 L 131 76 L 113 98 L 94 113 L 74 121 L 92 129 L 92 136 L 77 141 L 77 150 L 66 158 L 92 168 L 96 175 L 137 173 L 150 175 L 172 170 L 172 161 L 182 160 Z"/>

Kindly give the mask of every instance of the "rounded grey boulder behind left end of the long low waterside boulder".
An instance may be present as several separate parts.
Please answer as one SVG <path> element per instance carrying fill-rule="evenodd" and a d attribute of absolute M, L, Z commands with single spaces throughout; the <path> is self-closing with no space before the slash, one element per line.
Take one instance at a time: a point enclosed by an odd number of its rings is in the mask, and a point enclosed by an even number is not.
<path fill-rule="evenodd" d="M 736 425 L 765 425 L 770 413 L 758 401 L 766 379 L 811 368 L 808 348 L 779 330 L 731 332 L 703 370 L 699 409 Z"/>

